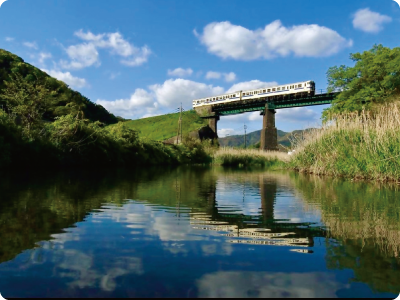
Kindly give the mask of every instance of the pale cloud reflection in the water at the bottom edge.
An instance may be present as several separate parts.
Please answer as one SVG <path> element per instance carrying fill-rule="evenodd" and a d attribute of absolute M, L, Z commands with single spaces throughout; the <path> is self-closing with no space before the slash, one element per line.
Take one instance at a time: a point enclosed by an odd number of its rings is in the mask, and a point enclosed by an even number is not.
<path fill-rule="evenodd" d="M 199 298 L 336 297 L 347 287 L 327 273 L 216 272 L 197 281 Z"/>

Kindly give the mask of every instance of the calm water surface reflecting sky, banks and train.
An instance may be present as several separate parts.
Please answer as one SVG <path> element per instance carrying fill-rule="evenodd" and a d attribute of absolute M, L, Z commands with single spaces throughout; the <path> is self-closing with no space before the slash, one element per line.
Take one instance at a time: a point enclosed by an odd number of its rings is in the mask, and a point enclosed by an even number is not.
<path fill-rule="evenodd" d="M 3 297 L 397 297 L 400 192 L 222 168 L 0 177 Z"/>

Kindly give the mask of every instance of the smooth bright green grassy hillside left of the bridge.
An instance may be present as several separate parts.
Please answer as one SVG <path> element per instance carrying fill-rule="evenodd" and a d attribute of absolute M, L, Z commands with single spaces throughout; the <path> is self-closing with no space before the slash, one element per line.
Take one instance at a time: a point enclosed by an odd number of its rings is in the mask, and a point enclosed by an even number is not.
<path fill-rule="evenodd" d="M 124 122 L 130 129 L 139 132 L 139 136 L 156 141 L 163 141 L 177 135 L 179 113 L 168 114 L 139 120 Z M 208 124 L 207 120 L 200 118 L 194 110 L 182 113 L 183 135 L 200 129 Z"/>

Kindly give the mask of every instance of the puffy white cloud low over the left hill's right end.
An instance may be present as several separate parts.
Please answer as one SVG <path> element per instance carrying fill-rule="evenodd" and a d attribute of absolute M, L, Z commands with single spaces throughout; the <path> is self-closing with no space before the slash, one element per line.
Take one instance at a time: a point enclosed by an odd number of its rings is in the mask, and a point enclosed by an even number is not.
<path fill-rule="evenodd" d="M 104 106 L 108 111 L 124 118 L 141 117 L 143 114 L 152 114 L 158 107 L 154 95 L 144 89 L 136 89 L 129 99 L 115 101 L 97 100 L 97 104 Z"/>

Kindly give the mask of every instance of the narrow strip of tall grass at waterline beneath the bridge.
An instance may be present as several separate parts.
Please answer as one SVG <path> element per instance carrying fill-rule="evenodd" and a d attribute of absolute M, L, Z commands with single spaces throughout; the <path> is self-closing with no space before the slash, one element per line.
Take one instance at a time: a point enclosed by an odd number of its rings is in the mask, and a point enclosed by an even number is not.
<path fill-rule="evenodd" d="M 223 166 L 283 167 L 287 161 L 288 155 L 278 151 L 222 147 L 213 154 L 213 162 Z"/>

